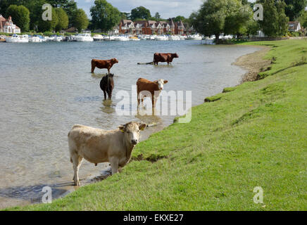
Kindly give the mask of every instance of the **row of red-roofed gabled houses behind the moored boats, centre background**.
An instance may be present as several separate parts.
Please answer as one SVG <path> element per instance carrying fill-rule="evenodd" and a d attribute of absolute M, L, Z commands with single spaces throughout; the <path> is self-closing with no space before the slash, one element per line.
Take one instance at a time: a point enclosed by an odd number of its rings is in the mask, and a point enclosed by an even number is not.
<path fill-rule="evenodd" d="M 172 19 L 168 21 L 155 20 L 120 20 L 118 26 L 119 34 L 191 34 L 193 27 L 189 27 L 182 21 L 174 23 Z"/>

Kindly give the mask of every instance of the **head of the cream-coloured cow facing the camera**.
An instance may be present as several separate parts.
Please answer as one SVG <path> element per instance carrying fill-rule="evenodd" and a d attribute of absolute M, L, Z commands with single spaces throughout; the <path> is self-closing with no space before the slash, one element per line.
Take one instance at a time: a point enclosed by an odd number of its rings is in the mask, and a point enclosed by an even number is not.
<path fill-rule="evenodd" d="M 139 142 L 139 131 L 144 130 L 146 127 L 147 124 L 128 122 L 127 124 L 120 125 L 118 128 L 124 133 L 125 140 L 132 144 L 132 146 L 135 146 Z"/>

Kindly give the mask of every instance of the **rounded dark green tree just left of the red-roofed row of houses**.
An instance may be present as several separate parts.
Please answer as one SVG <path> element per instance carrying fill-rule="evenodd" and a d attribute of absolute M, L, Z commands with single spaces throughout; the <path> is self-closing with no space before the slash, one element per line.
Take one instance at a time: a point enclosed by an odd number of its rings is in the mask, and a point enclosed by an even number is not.
<path fill-rule="evenodd" d="M 118 11 L 118 8 L 113 7 L 106 0 L 95 0 L 94 4 L 90 11 L 95 28 L 106 32 L 120 23 L 120 11 Z"/>

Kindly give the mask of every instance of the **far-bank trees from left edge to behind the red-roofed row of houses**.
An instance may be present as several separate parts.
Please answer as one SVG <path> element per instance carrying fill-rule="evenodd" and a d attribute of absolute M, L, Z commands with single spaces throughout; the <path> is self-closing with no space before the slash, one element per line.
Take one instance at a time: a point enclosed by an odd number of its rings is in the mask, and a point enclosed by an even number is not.
<path fill-rule="evenodd" d="M 44 4 L 51 4 L 52 20 L 42 20 Z M 68 27 L 75 27 L 80 32 L 87 29 L 108 32 L 120 23 L 120 20 L 165 20 L 157 12 L 151 16 L 151 12 L 144 6 L 133 8 L 131 13 L 123 13 L 112 6 L 106 0 L 96 0 L 90 8 L 92 20 L 87 18 L 86 13 L 77 8 L 74 0 L 1 0 L 0 14 L 6 18 L 12 16 L 13 23 L 20 27 L 22 32 L 52 32 L 65 30 Z M 173 18 L 174 22 L 182 20 L 188 23 L 189 19 L 181 15 Z"/>

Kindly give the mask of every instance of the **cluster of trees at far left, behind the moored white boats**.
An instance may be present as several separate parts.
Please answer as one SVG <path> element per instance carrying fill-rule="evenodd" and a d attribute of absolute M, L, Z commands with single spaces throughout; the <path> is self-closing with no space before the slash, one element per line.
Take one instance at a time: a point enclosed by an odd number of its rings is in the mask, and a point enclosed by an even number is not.
<path fill-rule="evenodd" d="M 51 21 L 42 19 L 44 4 L 53 6 Z M 58 32 L 72 26 L 81 31 L 89 25 L 86 13 L 73 0 L 1 0 L 0 14 L 11 15 L 22 32 Z"/>

